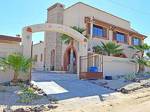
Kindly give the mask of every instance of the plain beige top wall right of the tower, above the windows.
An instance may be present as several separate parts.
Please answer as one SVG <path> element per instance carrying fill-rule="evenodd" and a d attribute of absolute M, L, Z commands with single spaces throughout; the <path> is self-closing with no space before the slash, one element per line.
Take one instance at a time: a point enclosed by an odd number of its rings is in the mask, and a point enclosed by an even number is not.
<path fill-rule="evenodd" d="M 87 16 L 94 16 L 94 18 L 98 20 L 103 20 L 104 22 L 120 26 L 125 29 L 130 29 L 130 23 L 128 21 L 80 2 L 64 11 L 63 23 L 69 26 L 77 25 L 85 28 L 84 18 Z"/>

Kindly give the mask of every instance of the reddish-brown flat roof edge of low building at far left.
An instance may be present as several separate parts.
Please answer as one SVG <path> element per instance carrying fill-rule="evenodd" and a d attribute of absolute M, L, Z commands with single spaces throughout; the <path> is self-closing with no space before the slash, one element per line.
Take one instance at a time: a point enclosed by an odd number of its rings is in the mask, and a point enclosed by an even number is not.
<path fill-rule="evenodd" d="M 13 37 L 13 36 L 7 36 L 7 35 L 0 35 L 0 40 L 21 42 L 20 37 Z"/>

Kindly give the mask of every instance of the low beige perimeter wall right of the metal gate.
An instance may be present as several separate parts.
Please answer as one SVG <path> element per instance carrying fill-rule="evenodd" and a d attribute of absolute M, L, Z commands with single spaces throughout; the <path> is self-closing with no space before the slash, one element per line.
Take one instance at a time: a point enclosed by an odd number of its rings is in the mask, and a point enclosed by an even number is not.
<path fill-rule="evenodd" d="M 137 72 L 137 64 L 128 58 L 119 58 L 112 56 L 103 56 L 103 71 L 105 75 L 126 75 Z"/>

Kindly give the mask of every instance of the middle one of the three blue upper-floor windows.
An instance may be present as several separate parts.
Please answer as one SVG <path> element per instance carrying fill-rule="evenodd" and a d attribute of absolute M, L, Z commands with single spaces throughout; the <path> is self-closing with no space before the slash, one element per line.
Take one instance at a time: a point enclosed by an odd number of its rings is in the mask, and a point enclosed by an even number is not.
<path fill-rule="evenodd" d="M 114 39 L 117 42 L 121 42 L 121 43 L 126 43 L 127 42 L 127 37 L 124 33 L 120 33 L 120 32 L 115 32 L 114 33 Z"/>

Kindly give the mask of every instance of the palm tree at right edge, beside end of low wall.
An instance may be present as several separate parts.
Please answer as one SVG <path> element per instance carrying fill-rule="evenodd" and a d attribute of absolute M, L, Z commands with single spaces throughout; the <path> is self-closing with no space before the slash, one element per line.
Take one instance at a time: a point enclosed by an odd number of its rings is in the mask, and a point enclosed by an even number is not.
<path fill-rule="evenodd" d="M 133 54 L 133 58 L 135 59 L 135 62 L 139 64 L 138 73 L 144 72 L 144 66 L 148 66 L 149 60 L 147 60 L 144 57 L 144 52 L 147 50 L 150 50 L 150 46 L 147 44 L 143 45 L 135 45 L 130 46 L 129 48 L 136 50 L 135 54 Z M 149 57 L 150 54 L 147 53 L 147 56 Z"/>

